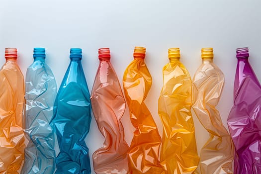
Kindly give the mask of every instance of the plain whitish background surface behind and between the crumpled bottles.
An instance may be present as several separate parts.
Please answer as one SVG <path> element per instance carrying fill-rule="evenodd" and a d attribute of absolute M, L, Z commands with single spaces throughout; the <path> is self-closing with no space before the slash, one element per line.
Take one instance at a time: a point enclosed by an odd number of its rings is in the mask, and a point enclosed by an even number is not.
<path fill-rule="evenodd" d="M 25 75 L 33 61 L 33 47 L 45 47 L 46 62 L 60 86 L 70 62 L 69 49 L 80 47 L 91 91 L 98 48 L 110 48 L 112 65 L 122 83 L 134 47 L 146 47 L 146 63 L 153 77 L 146 103 L 162 134 L 158 98 L 162 68 L 169 61 L 168 48 L 180 48 L 180 61 L 193 77 L 201 64 L 200 49 L 213 47 L 214 63 L 225 74 L 218 109 L 227 127 L 233 105 L 236 48 L 250 48 L 250 63 L 261 79 L 260 7 L 260 0 L 0 0 L 0 65 L 5 61 L 4 48 L 16 47 Z M 193 116 L 200 152 L 208 133 Z M 130 144 L 134 129 L 127 108 L 122 122 Z M 86 142 L 90 155 L 103 144 L 94 117 Z"/>

